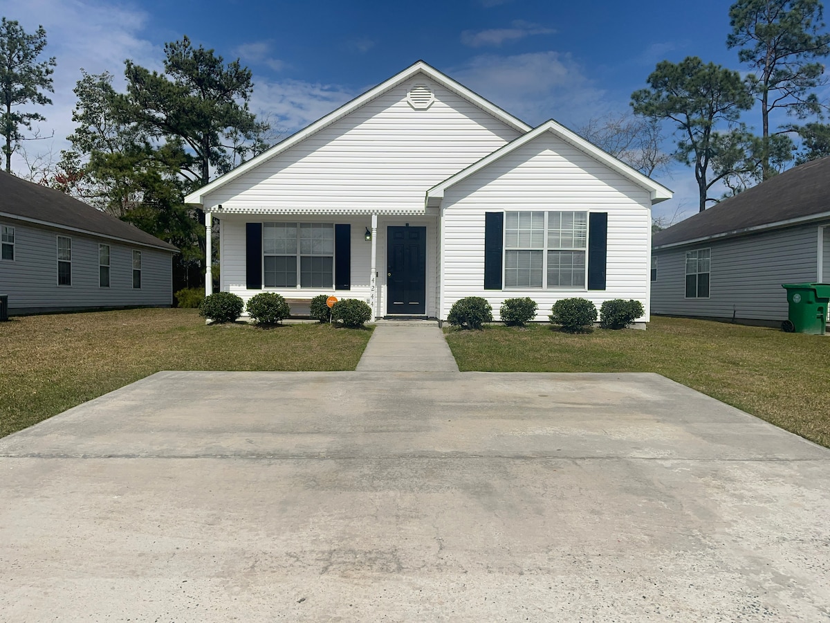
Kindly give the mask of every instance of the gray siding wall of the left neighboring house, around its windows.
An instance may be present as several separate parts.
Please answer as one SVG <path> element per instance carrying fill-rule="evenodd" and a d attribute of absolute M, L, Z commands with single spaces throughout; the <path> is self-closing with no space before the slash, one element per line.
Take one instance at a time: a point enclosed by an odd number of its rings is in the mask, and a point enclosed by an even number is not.
<path fill-rule="evenodd" d="M 170 306 L 172 253 L 92 238 L 57 228 L 16 221 L 14 261 L 0 260 L 0 294 L 10 313 L 85 307 Z M 57 237 L 72 240 L 72 284 L 57 285 Z M 98 245 L 110 245 L 110 287 L 99 287 Z M 141 252 L 141 287 L 133 288 L 133 251 Z"/>

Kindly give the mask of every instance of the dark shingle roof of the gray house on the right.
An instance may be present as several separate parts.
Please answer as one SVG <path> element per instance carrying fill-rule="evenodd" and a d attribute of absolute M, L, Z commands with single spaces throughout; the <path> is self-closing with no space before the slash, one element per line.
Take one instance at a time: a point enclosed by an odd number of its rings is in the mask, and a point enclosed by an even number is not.
<path fill-rule="evenodd" d="M 652 248 L 728 238 L 830 218 L 830 156 L 799 164 L 657 232 Z"/>

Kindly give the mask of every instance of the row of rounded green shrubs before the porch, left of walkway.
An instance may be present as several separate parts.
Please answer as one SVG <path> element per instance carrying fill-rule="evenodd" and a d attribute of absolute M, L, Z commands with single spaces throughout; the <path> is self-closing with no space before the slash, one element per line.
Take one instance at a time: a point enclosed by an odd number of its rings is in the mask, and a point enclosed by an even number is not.
<path fill-rule="evenodd" d="M 193 288 L 195 289 L 195 288 Z M 184 292 L 184 291 L 181 291 Z M 180 292 L 177 292 L 177 297 Z M 328 295 L 320 294 L 311 299 L 311 317 L 320 322 L 329 321 L 329 318 L 341 322 L 344 326 L 358 327 L 372 317 L 372 308 L 356 298 L 346 298 L 334 303 L 329 309 L 326 304 Z M 179 307 L 182 299 L 179 299 Z M 193 306 L 197 307 L 197 306 Z M 199 315 L 214 322 L 235 322 L 242 316 L 245 308 L 251 320 L 260 326 L 274 326 L 280 324 L 291 315 L 286 299 L 276 292 L 260 292 L 251 297 L 247 305 L 232 292 L 216 292 L 209 297 L 202 297 L 198 303 Z"/>

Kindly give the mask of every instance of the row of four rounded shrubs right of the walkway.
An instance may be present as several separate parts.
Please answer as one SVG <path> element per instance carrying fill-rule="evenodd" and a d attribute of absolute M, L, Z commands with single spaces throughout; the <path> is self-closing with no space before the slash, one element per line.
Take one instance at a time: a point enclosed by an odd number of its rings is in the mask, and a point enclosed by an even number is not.
<path fill-rule="evenodd" d="M 501 321 L 507 326 L 525 326 L 535 318 L 537 309 L 539 305 L 528 297 L 509 298 L 502 303 L 499 312 Z M 599 308 L 599 325 L 603 329 L 623 329 L 643 313 L 639 301 L 613 299 L 603 302 Z M 585 298 L 564 298 L 554 303 L 548 318 L 564 331 L 586 331 L 597 321 L 597 307 Z M 485 322 L 492 321 L 493 308 L 481 297 L 459 299 L 447 316 L 447 322 L 462 329 L 481 329 Z"/>

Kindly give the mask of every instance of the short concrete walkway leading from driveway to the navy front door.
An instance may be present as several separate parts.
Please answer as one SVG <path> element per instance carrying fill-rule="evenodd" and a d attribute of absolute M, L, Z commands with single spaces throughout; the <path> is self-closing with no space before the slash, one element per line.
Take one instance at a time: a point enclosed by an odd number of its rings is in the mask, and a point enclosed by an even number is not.
<path fill-rule="evenodd" d="M 435 321 L 378 321 L 357 370 L 457 372 Z"/>

